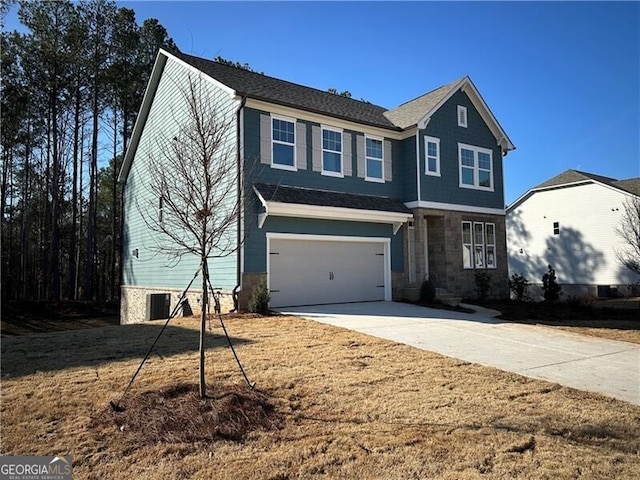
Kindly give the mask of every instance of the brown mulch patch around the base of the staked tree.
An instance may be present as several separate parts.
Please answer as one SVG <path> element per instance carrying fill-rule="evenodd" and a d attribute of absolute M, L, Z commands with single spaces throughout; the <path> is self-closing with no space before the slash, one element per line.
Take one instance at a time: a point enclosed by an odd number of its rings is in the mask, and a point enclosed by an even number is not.
<path fill-rule="evenodd" d="M 272 430 L 282 423 L 267 392 L 245 385 L 210 386 L 200 398 L 198 386 L 179 383 L 143 392 L 106 408 L 92 428 L 116 426 L 132 440 L 145 444 L 243 440 L 255 430 Z"/>

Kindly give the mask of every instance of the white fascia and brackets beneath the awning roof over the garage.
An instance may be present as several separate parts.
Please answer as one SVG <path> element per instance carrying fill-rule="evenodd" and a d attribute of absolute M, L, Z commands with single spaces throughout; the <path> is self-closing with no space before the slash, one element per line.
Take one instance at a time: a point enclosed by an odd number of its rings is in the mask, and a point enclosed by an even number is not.
<path fill-rule="evenodd" d="M 260 214 L 258 227 L 262 227 L 269 215 L 276 217 L 314 218 L 318 220 L 346 220 L 352 222 L 389 223 L 393 225 L 394 235 L 403 223 L 413 218 L 411 213 L 383 212 L 378 210 L 360 210 L 344 207 L 326 207 L 300 203 L 264 202 L 258 194 L 266 213 Z"/>

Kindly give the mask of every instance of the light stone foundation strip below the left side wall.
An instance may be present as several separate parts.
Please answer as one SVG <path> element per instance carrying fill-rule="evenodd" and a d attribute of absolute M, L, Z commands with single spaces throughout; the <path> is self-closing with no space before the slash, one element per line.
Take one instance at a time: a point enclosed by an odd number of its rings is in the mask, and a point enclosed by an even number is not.
<path fill-rule="evenodd" d="M 130 323 L 141 323 L 145 321 L 147 309 L 147 294 L 149 293 L 169 293 L 171 294 L 171 303 L 169 305 L 169 313 L 173 311 L 176 303 L 180 299 L 183 290 L 177 288 L 150 288 L 150 287 L 121 287 L 120 299 L 120 324 L 126 325 Z M 202 291 L 192 289 L 187 292 L 187 300 L 193 310 L 194 315 L 199 315 L 200 296 Z M 214 313 L 213 298 L 209 298 L 211 302 L 211 313 Z M 231 292 L 222 292 L 220 297 L 220 306 L 222 313 L 228 313 L 233 310 L 233 297 Z M 177 312 L 177 317 L 182 316 L 182 309 Z"/>

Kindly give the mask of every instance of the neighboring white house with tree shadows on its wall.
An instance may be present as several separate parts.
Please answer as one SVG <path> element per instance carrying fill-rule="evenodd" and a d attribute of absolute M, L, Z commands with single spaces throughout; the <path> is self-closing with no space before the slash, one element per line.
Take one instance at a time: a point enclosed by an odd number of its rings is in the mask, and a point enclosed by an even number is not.
<path fill-rule="evenodd" d="M 507 208 L 509 274 L 541 284 L 552 265 L 565 298 L 627 294 L 640 276 L 619 263 L 616 251 L 625 243 L 616 228 L 625 202 L 638 196 L 640 177 L 615 180 L 576 170 L 527 191 Z"/>

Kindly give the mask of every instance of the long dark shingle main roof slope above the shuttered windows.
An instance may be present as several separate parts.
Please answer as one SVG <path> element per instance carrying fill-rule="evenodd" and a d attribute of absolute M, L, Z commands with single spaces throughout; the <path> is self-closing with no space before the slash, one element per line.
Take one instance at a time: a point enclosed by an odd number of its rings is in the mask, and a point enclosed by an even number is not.
<path fill-rule="evenodd" d="M 240 95 L 315 113 L 351 120 L 366 125 L 399 130 L 384 116 L 386 108 L 305 87 L 261 73 L 250 72 L 212 60 L 174 53 L 176 57 L 234 89 Z"/>

